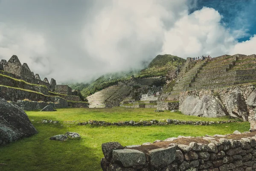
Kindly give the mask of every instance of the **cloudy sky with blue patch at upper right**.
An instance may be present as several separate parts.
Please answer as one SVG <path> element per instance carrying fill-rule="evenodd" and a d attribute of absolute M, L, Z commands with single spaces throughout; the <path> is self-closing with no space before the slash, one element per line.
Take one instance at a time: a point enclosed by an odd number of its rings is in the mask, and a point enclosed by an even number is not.
<path fill-rule="evenodd" d="M 256 54 L 256 0 L 0 0 L 0 59 L 87 82 L 158 54 Z"/>

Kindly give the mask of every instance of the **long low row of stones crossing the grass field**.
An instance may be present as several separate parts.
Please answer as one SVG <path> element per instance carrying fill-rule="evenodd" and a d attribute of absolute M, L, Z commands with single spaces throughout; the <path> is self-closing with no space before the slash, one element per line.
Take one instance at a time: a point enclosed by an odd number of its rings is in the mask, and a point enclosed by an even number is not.
<path fill-rule="evenodd" d="M 89 120 L 88 122 L 79 122 L 78 125 L 95 125 L 95 126 L 150 126 L 150 125 L 213 125 L 213 124 L 225 124 L 230 122 L 237 122 L 235 120 L 228 121 L 180 121 L 176 119 L 163 119 L 161 121 L 150 120 L 150 121 L 123 121 L 123 122 L 105 122 L 105 121 L 95 121 Z"/>

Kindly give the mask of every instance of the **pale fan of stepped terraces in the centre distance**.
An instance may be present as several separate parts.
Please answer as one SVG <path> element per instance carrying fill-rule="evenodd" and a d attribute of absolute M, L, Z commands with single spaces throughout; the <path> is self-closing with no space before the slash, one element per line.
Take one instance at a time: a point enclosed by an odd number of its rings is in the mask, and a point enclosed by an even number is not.
<path fill-rule="evenodd" d="M 114 93 L 116 93 L 121 86 L 114 85 L 100 90 L 87 97 L 89 108 L 102 108 L 105 107 L 105 101 L 109 99 Z"/>

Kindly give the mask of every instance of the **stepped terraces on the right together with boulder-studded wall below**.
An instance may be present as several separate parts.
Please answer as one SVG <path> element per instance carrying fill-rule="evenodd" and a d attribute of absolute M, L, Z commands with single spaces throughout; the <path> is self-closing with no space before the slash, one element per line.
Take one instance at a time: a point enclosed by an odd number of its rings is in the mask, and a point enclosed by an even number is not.
<path fill-rule="evenodd" d="M 256 114 L 253 102 L 256 90 L 250 85 L 253 82 L 256 82 L 256 55 L 222 55 L 197 61 L 188 58 L 175 83 L 163 88 L 159 100 L 179 101 L 179 110 L 186 115 L 230 115 L 250 121 Z"/>

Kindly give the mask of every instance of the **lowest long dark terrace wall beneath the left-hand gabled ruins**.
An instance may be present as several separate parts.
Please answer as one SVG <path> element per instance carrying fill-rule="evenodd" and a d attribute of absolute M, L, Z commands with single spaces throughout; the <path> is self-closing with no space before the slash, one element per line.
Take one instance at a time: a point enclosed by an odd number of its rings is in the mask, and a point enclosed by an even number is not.
<path fill-rule="evenodd" d="M 56 108 L 68 107 L 67 101 L 58 96 L 47 96 L 29 90 L 20 90 L 14 87 L 0 86 L 0 97 L 7 101 L 28 99 L 29 101 L 45 101 L 55 103 Z"/>

